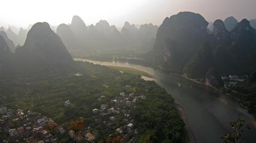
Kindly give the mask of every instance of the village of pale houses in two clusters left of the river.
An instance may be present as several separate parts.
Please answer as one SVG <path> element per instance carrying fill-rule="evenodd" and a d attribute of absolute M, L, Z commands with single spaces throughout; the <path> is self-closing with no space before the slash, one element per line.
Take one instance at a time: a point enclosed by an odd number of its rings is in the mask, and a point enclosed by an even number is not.
<path fill-rule="evenodd" d="M 130 88 L 126 85 L 126 88 Z M 98 101 L 104 100 L 106 96 L 100 96 Z M 145 100 L 145 95 L 134 93 L 125 94 L 121 92 L 115 98 L 101 104 L 98 108 L 91 110 L 90 124 L 83 127 L 81 135 L 77 137 L 73 130 L 68 127 L 57 125 L 45 115 L 31 110 L 24 112 L 22 109 L 0 108 L 0 141 L 1 142 L 57 142 L 56 135 L 46 129 L 47 125 L 56 125 L 58 135 L 63 135 L 69 140 L 83 140 L 85 142 L 99 142 L 107 137 L 119 136 L 122 142 L 136 142 L 139 131 L 134 125 L 131 111 L 136 108 L 139 100 Z M 67 100 L 63 106 L 73 108 L 75 105 Z M 77 139 L 75 139 L 77 137 Z"/>

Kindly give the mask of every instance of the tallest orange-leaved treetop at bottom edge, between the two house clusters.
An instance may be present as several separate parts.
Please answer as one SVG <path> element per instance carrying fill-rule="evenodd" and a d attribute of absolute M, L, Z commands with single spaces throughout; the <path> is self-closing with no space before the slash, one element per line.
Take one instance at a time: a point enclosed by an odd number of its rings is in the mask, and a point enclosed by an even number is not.
<path fill-rule="evenodd" d="M 77 142 L 77 139 L 81 136 L 84 125 L 83 120 L 71 121 L 70 129 L 75 133 L 75 142 Z"/>

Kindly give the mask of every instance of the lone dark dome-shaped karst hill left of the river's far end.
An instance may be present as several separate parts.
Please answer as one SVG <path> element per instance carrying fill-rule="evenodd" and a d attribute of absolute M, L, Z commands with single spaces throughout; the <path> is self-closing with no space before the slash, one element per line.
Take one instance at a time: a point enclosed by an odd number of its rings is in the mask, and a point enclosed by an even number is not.
<path fill-rule="evenodd" d="M 16 62 L 24 67 L 58 67 L 72 63 L 61 38 L 46 22 L 38 22 L 29 30 L 26 42 L 15 53 Z"/>

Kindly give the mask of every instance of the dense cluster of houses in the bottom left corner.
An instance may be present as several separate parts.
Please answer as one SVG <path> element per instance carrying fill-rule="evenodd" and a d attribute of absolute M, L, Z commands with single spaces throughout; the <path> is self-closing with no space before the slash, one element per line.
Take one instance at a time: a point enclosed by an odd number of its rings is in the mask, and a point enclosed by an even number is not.
<path fill-rule="evenodd" d="M 0 108 L 0 142 L 56 142 L 56 137 L 45 129 L 46 124 L 55 124 L 40 113 L 18 109 Z M 65 130 L 57 126 L 60 133 Z M 2 139 L 1 139 L 2 138 Z"/>

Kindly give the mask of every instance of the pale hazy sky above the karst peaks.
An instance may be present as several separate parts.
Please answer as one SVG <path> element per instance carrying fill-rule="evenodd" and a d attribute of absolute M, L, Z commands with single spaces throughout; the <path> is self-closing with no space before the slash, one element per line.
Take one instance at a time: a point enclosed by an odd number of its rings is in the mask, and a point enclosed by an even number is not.
<path fill-rule="evenodd" d="M 100 19 L 121 27 L 125 21 L 160 25 L 165 17 L 180 11 L 200 13 L 208 21 L 234 16 L 256 18 L 256 0 L 1 0 L 0 26 L 46 21 L 52 25 L 70 23 L 73 15 L 85 23 Z"/>

